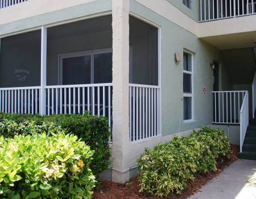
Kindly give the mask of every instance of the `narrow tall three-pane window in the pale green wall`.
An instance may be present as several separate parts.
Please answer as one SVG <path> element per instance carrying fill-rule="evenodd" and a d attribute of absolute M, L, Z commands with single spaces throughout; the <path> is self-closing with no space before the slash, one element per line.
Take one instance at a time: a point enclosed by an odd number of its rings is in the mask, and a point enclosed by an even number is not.
<path fill-rule="evenodd" d="M 184 121 L 193 120 L 193 55 L 183 53 L 183 113 Z"/>

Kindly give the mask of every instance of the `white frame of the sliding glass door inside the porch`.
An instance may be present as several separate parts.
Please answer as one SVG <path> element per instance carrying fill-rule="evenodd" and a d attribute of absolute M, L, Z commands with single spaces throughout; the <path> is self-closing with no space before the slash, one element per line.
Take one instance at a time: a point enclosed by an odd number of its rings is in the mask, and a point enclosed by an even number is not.
<path fill-rule="evenodd" d="M 63 59 L 71 58 L 71 57 L 80 57 L 80 56 L 91 56 L 90 60 L 90 84 L 94 84 L 94 55 L 103 54 L 103 53 L 111 53 L 113 52 L 112 48 L 104 48 L 104 49 L 95 49 L 91 51 L 82 51 L 82 52 L 72 52 L 58 55 L 59 63 L 58 63 L 58 84 L 63 84 Z"/>

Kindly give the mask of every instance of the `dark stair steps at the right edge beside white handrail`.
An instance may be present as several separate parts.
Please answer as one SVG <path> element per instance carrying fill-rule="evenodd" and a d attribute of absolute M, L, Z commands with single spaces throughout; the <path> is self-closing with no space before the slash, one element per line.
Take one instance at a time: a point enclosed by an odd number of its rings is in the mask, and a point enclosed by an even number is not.
<path fill-rule="evenodd" d="M 243 152 L 239 153 L 238 157 L 240 159 L 256 160 L 256 119 L 250 120 L 243 142 Z"/>

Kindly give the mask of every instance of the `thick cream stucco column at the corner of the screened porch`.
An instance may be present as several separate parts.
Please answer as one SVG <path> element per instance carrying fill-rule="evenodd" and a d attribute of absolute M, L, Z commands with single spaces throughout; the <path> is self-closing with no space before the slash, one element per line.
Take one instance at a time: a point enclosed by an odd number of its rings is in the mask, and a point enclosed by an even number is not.
<path fill-rule="evenodd" d="M 112 180 L 129 180 L 129 1 L 112 0 L 113 145 Z"/>

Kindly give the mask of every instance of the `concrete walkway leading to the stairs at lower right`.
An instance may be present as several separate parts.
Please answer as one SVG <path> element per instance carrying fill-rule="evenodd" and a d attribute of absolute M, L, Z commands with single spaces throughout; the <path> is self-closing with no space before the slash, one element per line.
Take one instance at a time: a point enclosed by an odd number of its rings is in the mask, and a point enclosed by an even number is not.
<path fill-rule="evenodd" d="M 251 199 L 256 198 L 256 185 L 248 184 L 256 177 L 256 161 L 237 160 L 219 176 L 207 183 L 191 199 Z"/>

